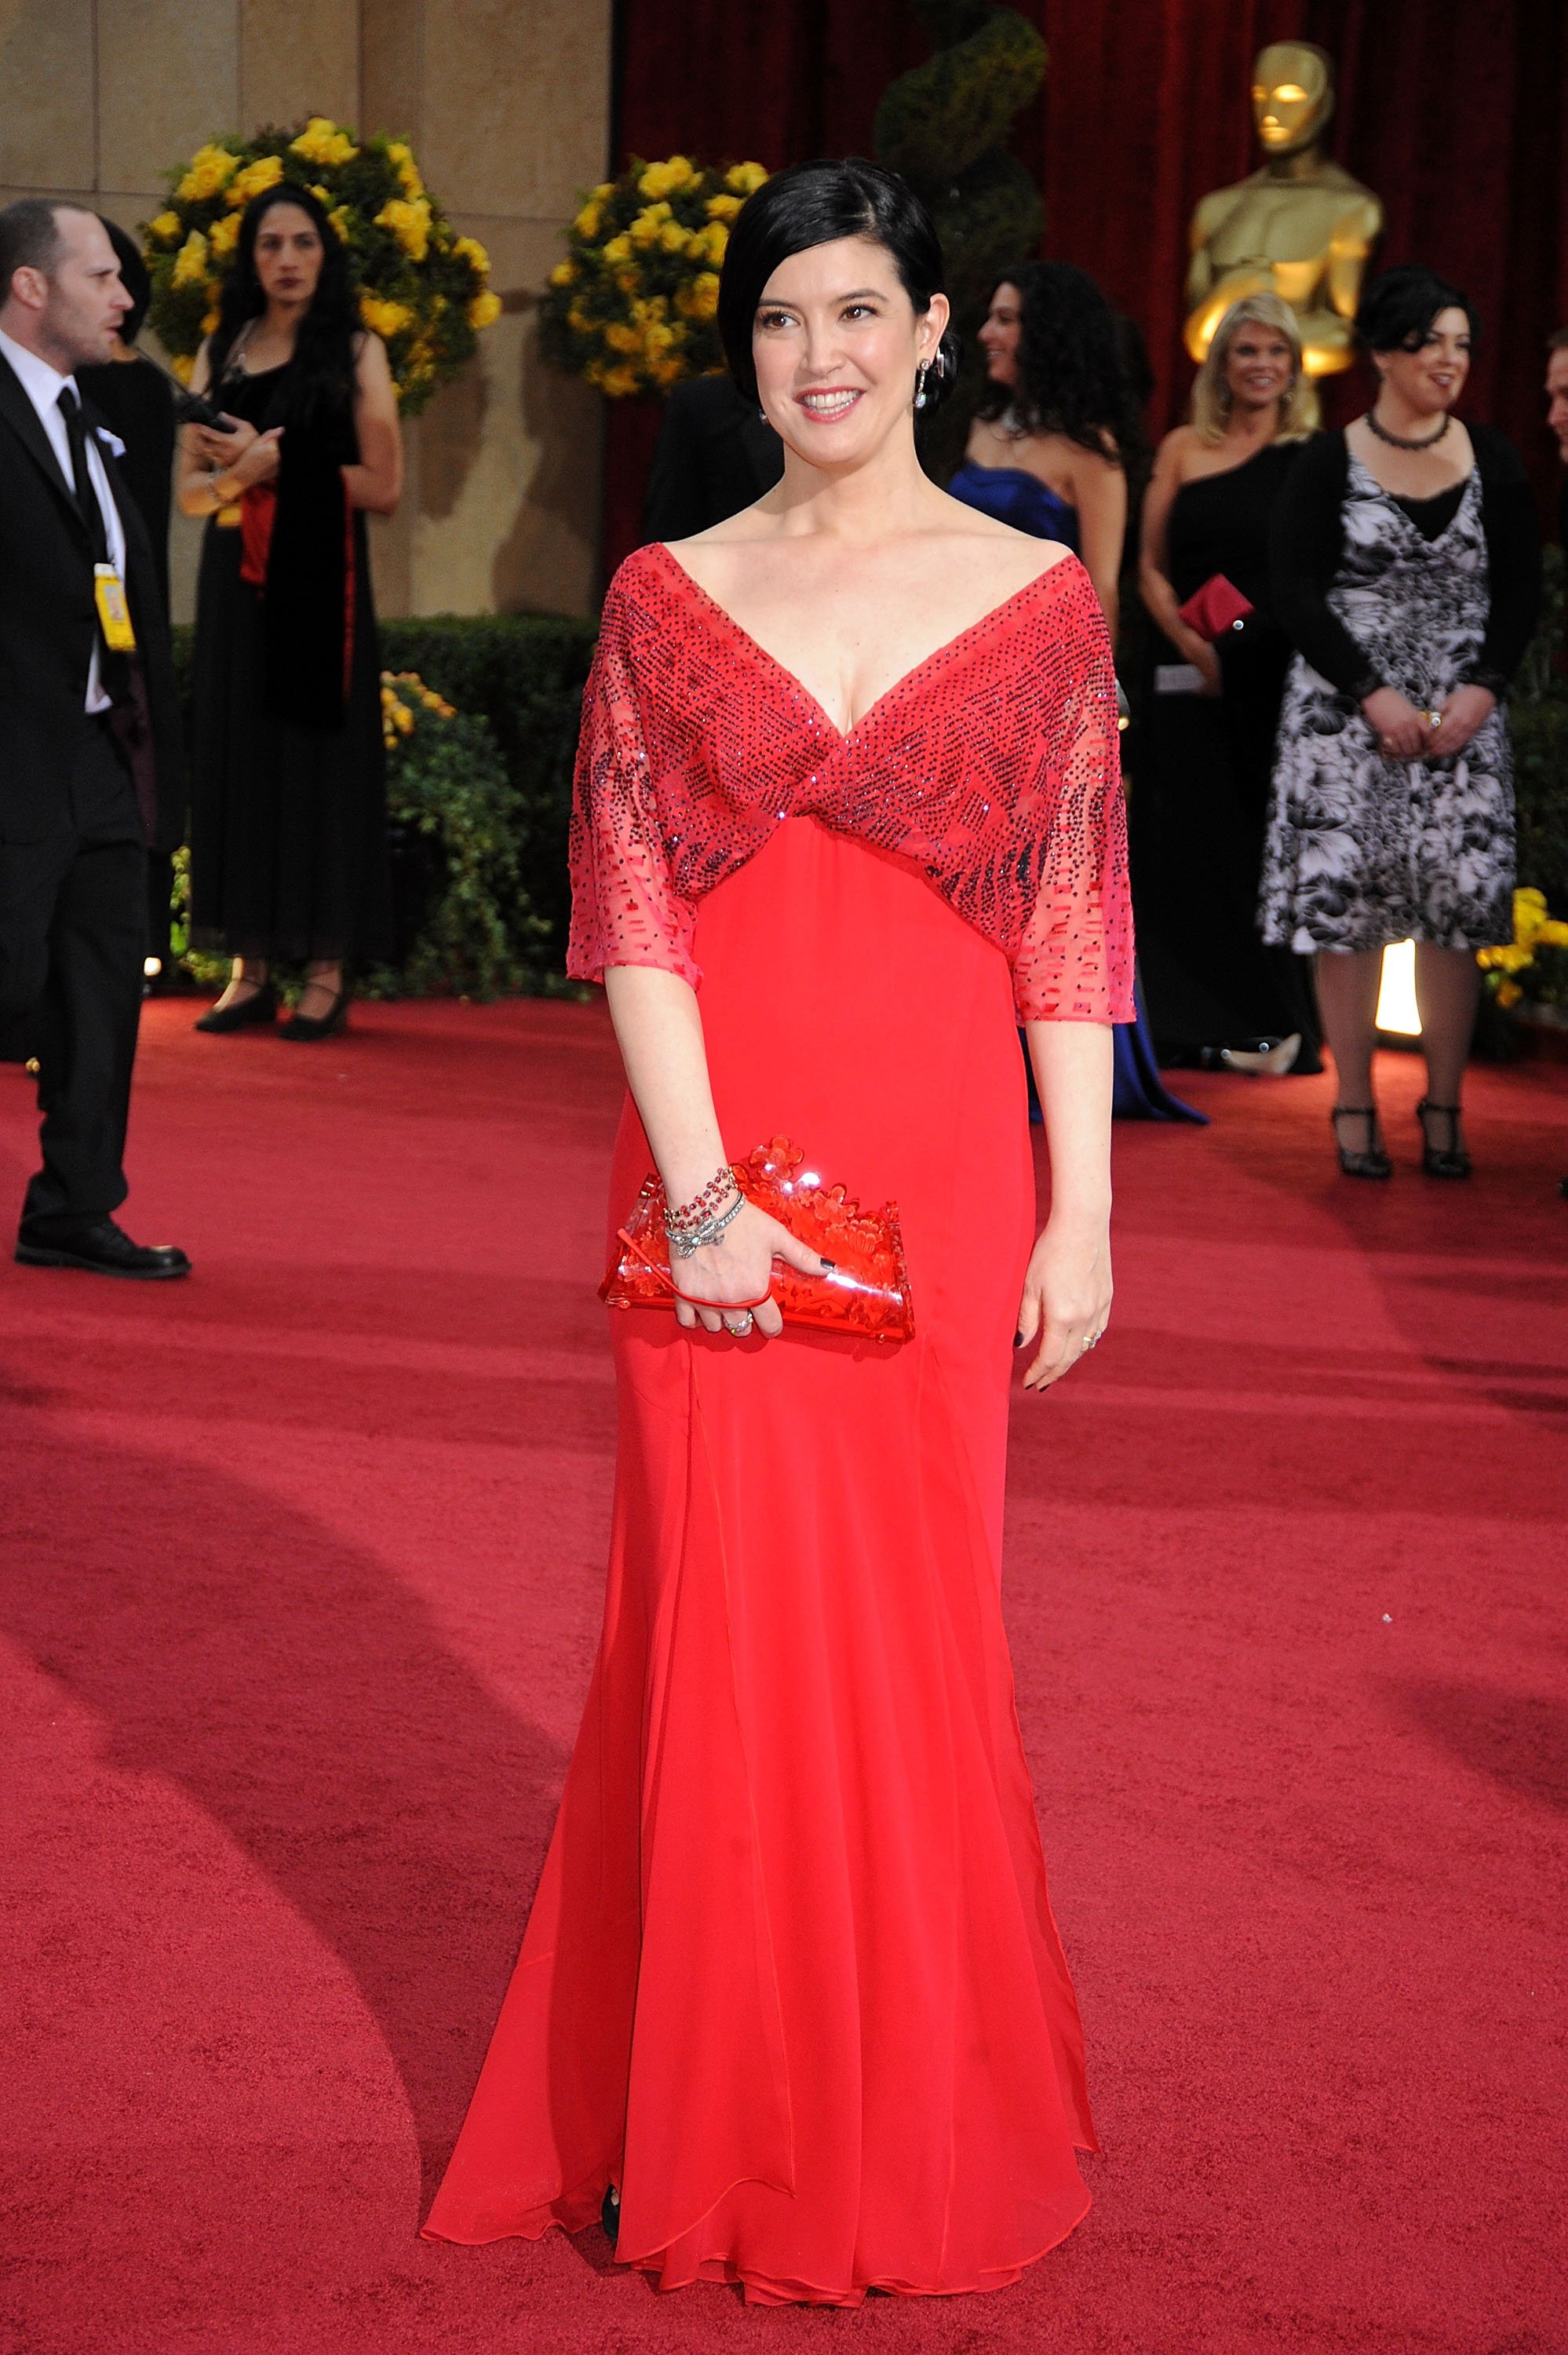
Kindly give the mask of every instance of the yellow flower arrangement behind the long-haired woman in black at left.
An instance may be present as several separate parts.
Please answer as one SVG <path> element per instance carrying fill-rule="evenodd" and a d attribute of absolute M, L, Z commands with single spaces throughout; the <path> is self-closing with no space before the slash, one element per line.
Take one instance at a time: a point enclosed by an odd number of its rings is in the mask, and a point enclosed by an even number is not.
<path fill-rule="evenodd" d="M 459 238 L 431 195 L 407 139 L 358 139 L 327 115 L 254 139 L 212 139 L 170 174 L 170 198 L 144 228 L 153 276 L 148 320 L 181 382 L 219 316 L 240 221 L 268 188 L 308 191 L 337 231 L 365 325 L 386 339 L 407 414 L 471 358 L 501 301 L 490 254 Z"/>

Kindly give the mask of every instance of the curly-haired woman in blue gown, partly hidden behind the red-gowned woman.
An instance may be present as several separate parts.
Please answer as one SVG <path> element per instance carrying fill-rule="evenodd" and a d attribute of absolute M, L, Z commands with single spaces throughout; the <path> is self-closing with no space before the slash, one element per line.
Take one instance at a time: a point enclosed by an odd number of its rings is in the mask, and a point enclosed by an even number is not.
<path fill-rule="evenodd" d="M 996 285 L 979 344 L 989 386 L 946 487 L 1015 532 L 1069 546 L 1116 638 L 1128 530 L 1123 452 L 1137 436 L 1116 316 L 1088 271 L 1071 261 L 1022 261 Z M 1031 1116 L 1038 1119 L 1034 1102 Z M 1142 996 L 1137 1022 L 1116 1024 L 1116 1116 L 1203 1119 L 1163 1086 Z"/>

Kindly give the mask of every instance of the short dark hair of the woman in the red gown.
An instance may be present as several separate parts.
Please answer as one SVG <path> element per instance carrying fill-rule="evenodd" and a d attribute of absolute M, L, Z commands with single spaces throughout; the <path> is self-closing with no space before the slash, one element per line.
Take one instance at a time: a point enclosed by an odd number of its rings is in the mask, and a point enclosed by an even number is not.
<path fill-rule="evenodd" d="M 885 172 L 864 155 L 796 162 L 775 172 L 737 212 L 718 273 L 718 334 L 730 374 L 746 400 L 756 400 L 751 332 L 763 287 L 791 254 L 803 254 L 812 245 L 836 245 L 838 238 L 869 238 L 881 245 L 892 257 L 916 316 L 930 311 L 932 294 L 946 292 L 942 240 L 932 217 L 897 172 Z M 956 370 L 958 337 L 949 327 L 925 379 L 928 407 L 942 400 Z"/>

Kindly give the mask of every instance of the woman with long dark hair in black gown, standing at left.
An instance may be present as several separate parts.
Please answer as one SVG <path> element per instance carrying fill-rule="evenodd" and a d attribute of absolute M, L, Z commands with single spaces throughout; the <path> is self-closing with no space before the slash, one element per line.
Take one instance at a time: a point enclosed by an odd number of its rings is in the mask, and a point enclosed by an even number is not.
<path fill-rule="evenodd" d="M 304 963 L 285 1039 L 348 1008 L 346 958 L 388 954 L 381 662 L 365 513 L 403 487 L 379 337 L 358 327 L 348 259 L 308 188 L 240 221 L 195 391 L 233 433 L 186 426 L 179 504 L 210 516 L 195 615 L 191 937 L 233 977 L 195 1024 L 278 1013 L 273 961 Z"/>

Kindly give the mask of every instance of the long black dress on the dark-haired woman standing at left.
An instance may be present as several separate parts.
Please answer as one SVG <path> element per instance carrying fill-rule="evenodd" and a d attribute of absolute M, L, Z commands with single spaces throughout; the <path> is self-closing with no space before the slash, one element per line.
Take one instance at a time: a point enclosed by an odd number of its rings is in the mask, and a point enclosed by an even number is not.
<path fill-rule="evenodd" d="M 285 424 L 290 367 L 233 370 L 219 405 Z M 391 954 L 381 657 L 353 426 L 287 422 L 266 586 L 207 525 L 195 608 L 191 940 L 228 956 Z M 341 504 L 339 504 L 341 502 Z"/>

